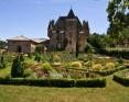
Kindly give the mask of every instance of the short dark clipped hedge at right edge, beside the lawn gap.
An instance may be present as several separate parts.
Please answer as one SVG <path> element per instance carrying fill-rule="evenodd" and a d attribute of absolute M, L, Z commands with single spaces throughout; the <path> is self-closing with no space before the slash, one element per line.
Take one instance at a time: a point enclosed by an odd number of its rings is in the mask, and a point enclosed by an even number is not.
<path fill-rule="evenodd" d="M 129 78 L 123 78 L 118 75 L 114 75 L 114 80 L 121 83 L 125 87 L 129 87 Z"/>

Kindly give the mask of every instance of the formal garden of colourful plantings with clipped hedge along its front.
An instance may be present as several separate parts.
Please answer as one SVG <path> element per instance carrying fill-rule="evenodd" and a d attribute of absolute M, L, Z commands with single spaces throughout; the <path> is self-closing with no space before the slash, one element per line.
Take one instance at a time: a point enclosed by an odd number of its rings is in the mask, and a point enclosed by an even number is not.
<path fill-rule="evenodd" d="M 128 69 L 127 59 L 92 53 L 3 53 L 0 61 L 1 84 L 103 88 L 107 76 Z"/>

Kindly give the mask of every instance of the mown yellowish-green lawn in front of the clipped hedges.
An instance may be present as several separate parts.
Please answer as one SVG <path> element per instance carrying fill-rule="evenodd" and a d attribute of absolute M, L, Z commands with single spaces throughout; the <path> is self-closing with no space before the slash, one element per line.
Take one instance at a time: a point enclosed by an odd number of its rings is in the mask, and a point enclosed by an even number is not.
<path fill-rule="evenodd" d="M 106 88 L 0 86 L 0 102 L 128 102 L 129 88 L 111 78 L 106 78 Z"/>

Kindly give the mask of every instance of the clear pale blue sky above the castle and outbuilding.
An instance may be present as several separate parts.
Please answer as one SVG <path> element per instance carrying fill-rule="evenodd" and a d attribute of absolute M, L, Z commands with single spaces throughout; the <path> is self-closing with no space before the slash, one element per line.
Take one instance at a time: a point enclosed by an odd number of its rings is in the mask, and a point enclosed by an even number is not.
<path fill-rule="evenodd" d="M 0 39 L 24 35 L 47 38 L 50 20 L 75 15 L 88 21 L 90 33 L 104 34 L 108 29 L 106 8 L 109 0 L 0 0 Z"/>

